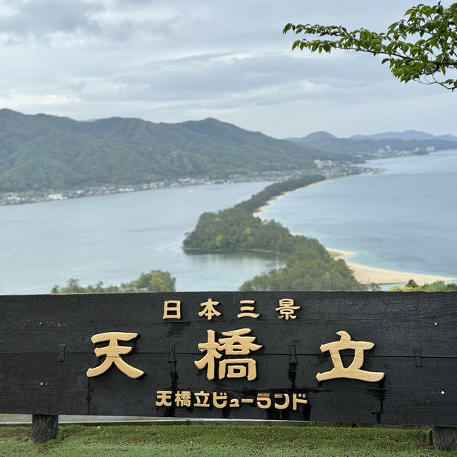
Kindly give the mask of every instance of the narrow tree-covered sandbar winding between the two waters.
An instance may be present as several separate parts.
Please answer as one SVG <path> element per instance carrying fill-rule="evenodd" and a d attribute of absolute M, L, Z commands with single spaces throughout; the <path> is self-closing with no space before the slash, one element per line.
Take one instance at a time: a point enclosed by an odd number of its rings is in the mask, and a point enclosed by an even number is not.
<path fill-rule="evenodd" d="M 262 221 L 253 212 L 273 196 L 322 181 L 306 175 L 271 184 L 246 201 L 217 213 L 200 216 L 194 231 L 184 240 L 188 252 L 253 251 L 284 257 L 285 266 L 243 283 L 241 291 L 361 291 L 346 263 L 330 256 L 321 243 L 307 236 L 292 235 L 276 221 Z"/>

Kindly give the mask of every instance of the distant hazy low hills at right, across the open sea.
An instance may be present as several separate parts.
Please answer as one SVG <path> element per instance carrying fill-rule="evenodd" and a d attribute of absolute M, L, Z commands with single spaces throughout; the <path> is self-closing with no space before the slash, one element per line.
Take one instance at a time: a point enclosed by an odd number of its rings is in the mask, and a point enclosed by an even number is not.
<path fill-rule="evenodd" d="M 390 137 L 389 134 L 391 134 Z M 351 154 L 364 159 L 403 153 L 427 154 L 440 149 L 457 149 L 457 138 L 452 135 L 438 137 L 420 131 L 406 131 L 397 136 L 396 132 L 387 132 L 370 136 L 355 135 L 351 138 L 336 138 L 327 132 L 317 131 L 303 138 L 290 138 L 288 141 L 333 152 L 333 154 Z"/>

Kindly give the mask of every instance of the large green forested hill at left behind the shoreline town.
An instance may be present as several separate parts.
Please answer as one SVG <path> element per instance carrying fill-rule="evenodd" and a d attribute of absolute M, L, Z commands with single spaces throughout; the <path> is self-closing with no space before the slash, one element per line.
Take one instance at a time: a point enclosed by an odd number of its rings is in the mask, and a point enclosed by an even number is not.
<path fill-rule="evenodd" d="M 225 179 L 314 169 L 315 159 L 336 158 L 341 155 L 216 119 L 181 124 L 119 117 L 74 121 L 0 110 L 0 191 Z"/>

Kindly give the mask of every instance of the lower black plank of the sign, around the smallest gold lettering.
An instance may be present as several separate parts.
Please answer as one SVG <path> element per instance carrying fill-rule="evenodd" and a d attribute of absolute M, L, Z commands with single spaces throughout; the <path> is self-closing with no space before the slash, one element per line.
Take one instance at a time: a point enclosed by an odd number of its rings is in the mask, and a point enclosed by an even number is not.
<path fill-rule="evenodd" d="M 146 371 L 131 379 L 116 367 L 97 378 L 86 370 L 96 363 L 89 354 L 73 354 L 59 362 L 54 354 L 1 355 L 2 413 L 96 414 L 214 418 L 281 418 L 358 423 L 457 424 L 457 387 L 452 373 L 456 358 L 367 357 L 364 368 L 383 370 L 377 383 L 333 379 L 318 383 L 316 373 L 331 368 L 328 357 L 258 355 L 258 378 L 209 381 L 196 368 L 199 355 L 132 354 L 129 363 Z M 350 363 L 345 356 L 344 363 Z M 12 373 L 12 374 L 11 374 Z M 30 373 L 34 373 L 31 376 Z M 42 385 L 41 385 L 42 383 Z M 256 401 L 240 408 L 156 406 L 157 391 L 226 392 L 229 398 L 254 398 L 258 393 L 306 393 L 307 404 L 296 411 L 261 409 Z M 194 403 L 193 399 L 193 403 Z"/>

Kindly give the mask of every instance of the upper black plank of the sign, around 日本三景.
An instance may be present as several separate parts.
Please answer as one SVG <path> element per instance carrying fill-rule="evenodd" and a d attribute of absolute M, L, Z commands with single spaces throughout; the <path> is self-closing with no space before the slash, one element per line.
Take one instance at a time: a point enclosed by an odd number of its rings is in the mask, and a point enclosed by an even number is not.
<path fill-rule="evenodd" d="M 200 303 L 220 301 L 222 316 L 198 316 Z M 256 318 L 236 318 L 239 301 L 256 300 Z M 293 298 L 301 309 L 294 321 L 278 319 L 281 298 Z M 163 303 L 180 299 L 181 320 L 164 320 Z M 456 356 L 457 293 L 168 293 L 79 296 L 3 296 L 0 309 L 2 353 L 66 353 L 94 351 L 90 338 L 106 331 L 134 331 L 140 353 L 194 351 L 206 329 L 248 327 L 268 353 L 318 354 L 321 343 L 339 330 L 369 339 L 373 354 L 382 356 Z M 191 329 L 191 331 L 190 331 Z M 285 337 L 286 336 L 286 337 Z"/>

